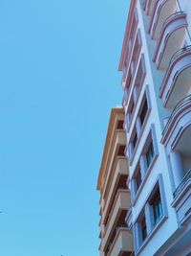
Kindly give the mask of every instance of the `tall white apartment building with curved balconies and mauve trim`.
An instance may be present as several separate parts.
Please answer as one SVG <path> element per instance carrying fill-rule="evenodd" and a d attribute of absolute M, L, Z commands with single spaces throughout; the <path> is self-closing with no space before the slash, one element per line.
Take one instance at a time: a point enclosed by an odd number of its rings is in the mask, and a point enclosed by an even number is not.
<path fill-rule="evenodd" d="M 118 69 L 135 255 L 191 255 L 190 34 L 191 1 L 131 1 Z"/>

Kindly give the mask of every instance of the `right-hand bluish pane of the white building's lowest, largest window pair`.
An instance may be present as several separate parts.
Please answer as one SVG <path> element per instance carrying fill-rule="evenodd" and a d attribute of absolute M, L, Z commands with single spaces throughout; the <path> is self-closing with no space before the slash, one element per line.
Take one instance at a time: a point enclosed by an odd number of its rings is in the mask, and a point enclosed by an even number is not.
<path fill-rule="evenodd" d="M 150 205 L 153 209 L 153 216 L 154 216 L 154 225 L 156 225 L 159 220 L 161 219 L 163 213 L 162 213 L 162 205 L 161 205 L 161 198 L 159 194 L 159 188 L 156 191 L 155 195 L 150 201 Z"/>

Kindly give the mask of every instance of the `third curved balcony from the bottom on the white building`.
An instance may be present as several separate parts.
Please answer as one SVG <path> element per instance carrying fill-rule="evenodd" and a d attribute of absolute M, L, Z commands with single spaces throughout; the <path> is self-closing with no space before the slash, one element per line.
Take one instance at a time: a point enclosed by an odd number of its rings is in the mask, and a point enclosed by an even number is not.
<path fill-rule="evenodd" d="M 159 89 L 164 106 L 173 109 L 191 91 L 191 46 L 180 49 L 170 60 Z"/>

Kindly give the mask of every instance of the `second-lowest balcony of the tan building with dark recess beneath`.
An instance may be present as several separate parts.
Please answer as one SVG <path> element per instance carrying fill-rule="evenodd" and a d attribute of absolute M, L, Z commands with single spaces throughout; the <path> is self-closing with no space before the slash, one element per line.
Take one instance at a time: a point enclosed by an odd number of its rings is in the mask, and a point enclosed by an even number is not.
<path fill-rule="evenodd" d="M 112 244 L 117 233 L 117 227 L 126 226 L 125 216 L 127 210 L 131 206 L 131 198 L 129 191 L 118 190 L 117 195 L 109 216 L 105 232 L 103 234 L 103 247 L 108 250 L 109 244 Z"/>

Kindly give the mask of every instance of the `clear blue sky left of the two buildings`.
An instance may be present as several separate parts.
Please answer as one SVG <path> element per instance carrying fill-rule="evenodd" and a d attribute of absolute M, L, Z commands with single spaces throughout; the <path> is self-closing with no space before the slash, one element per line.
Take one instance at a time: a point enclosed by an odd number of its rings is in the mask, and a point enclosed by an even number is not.
<path fill-rule="evenodd" d="M 96 256 L 128 0 L 0 1 L 0 256 Z"/>

